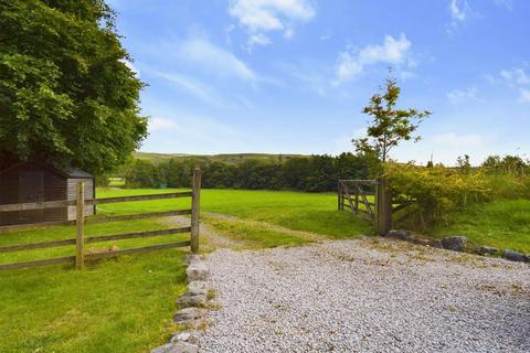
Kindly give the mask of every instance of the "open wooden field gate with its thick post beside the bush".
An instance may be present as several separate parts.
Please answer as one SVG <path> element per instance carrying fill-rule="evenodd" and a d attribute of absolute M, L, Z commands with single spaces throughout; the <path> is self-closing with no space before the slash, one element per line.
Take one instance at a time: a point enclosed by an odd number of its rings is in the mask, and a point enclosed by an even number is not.
<path fill-rule="evenodd" d="M 373 202 L 369 200 L 373 196 Z M 392 214 L 409 204 L 393 199 L 386 178 L 374 180 L 339 180 L 338 210 L 349 211 L 375 227 L 380 235 L 392 228 Z"/>

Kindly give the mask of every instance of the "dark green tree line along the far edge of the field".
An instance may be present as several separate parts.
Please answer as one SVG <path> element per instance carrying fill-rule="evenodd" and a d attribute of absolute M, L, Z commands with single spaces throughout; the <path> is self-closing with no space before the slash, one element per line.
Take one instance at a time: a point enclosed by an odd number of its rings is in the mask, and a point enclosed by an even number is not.
<path fill-rule="evenodd" d="M 126 188 L 190 188 L 194 167 L 201 168 L 202 185 L 209 189 L 322 192 L 337 190 L 339 179 L 373 176 L 373 161 L 351 152 L 337 157 L 295 157 L 285 161 L 248 159 L 237 164 L 193 158 L 159 163 L 137 159 L 125 167 Z"/>

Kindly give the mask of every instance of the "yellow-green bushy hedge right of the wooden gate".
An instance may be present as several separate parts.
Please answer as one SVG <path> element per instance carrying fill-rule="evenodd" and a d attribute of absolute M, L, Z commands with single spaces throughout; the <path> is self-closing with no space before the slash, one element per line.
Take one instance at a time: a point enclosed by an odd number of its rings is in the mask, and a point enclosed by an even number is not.
<path fill-rule="evenodd" d="M 398 200 L 413 201 L 395 214 L 396 225 L 411 229 L 446 223 L 451 214 L 471 204 L 530 197 L 530 176 L 520 170 L 386 163 L 385 175 Z"/>

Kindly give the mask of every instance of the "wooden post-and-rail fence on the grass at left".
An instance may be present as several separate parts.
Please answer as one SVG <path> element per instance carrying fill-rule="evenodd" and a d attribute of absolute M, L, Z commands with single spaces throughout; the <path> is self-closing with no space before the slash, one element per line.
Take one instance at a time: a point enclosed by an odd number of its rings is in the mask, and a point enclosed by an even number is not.
<path fill-rule="evenodd" d="M 75 263 L 75 266 L 77 269 L 83 269 L 85 266 L 85 260 L 98 259 L 104 257 L 114 257 L 119 255 L 139 254 L 139 253 L 176 248 L 176 247 L 186 247 L 186 246 L 190 246 L 190 249 L 193 253 L 199 252 L 199 210 L 200 210 L 200 194 L 201 194 L 200 169 L 197 168 L 193 171 L 193 188 L 192 188 L 192 191 L 190 192 L 173 192 L 173 193 L 152 194 L 152 195 L 135 195 L 135 196 L 85 200 L 84 188 L 85 188 L 84 183 L 77 184 L 77 197 L 74 201 L 49 201 L 49 202 L 38 202 L 38 203 L 0 205 L 0 212 L 67 207 L 72 205 L 76 206 L 75 221 L 0 226 L 0 236 L 1 236 L 1 233 L 28 229 L 35 226 L 42 226 L 42 225 L 75 224 L 76 225 L 75 238 L 0 247 L 0 253 L 13 253 L 13 252 L 30 250 L 30 249 L 55 248 L 61 246 L 75 245 L 74 256 L 6 264 L 6 265 L 0 265 L 0 270 L 28 268 L 28 267 L 55 265 L 55 264 L 67 264 L 67 263 L 72 263 L 72 264 Z M 191 197 L 191 208 L 165 211 L 165 212 L 151 212 L 151 213 L 141 213 L 141 214 L 129 214 L 129 215 L 105 216 L 105 217 L 100 217 L 100 216 L 85 217 L 84 215 L 84 208 L 87 205 L 100 205 L 100 204 L 107 204 L 107 203 L 121 203 L 121 202 L 132 202 L 132 201 L 151 201 L 151 200 L 176 199 L 176 197 Z M 85 224 L 130 221 L 130 220 L 187 215 L 187 214 L 191 215 L 191 224 L 189 227 L 85 237 L 85 229 L 84 229 Z M 152 236 L 161 236 L 161 235 L 170 235 L 170 234 L 179 234 L 179 233 L 190 233 L 191 234 L 190 240 L 158 244 L 158 245 L 151 245 L 151 246 L 145 246 L 145 247 L 121 249 L 121 250 L 109 250 L 109 252 L 91 253 L 91 254 L 85 253 L 86 244 L 129 239 L 129 238 L 144 238 L 144 237 L 152 237 Z"/>

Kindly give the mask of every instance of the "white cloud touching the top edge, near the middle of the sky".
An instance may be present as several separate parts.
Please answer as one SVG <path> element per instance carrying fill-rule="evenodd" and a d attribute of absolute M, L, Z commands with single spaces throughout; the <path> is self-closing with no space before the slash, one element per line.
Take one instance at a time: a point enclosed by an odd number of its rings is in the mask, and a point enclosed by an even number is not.
<path fill-rule="evenodd" d="M 284 36 L 290 39 L 295 33 L 294 23 L 312 19 L 316 9 L 310 0 L 232 0 L 229 13 L 247 29 L 250 36 L 283 31 Z M 252 44 L 263 45 L 263 42 Z"/>

